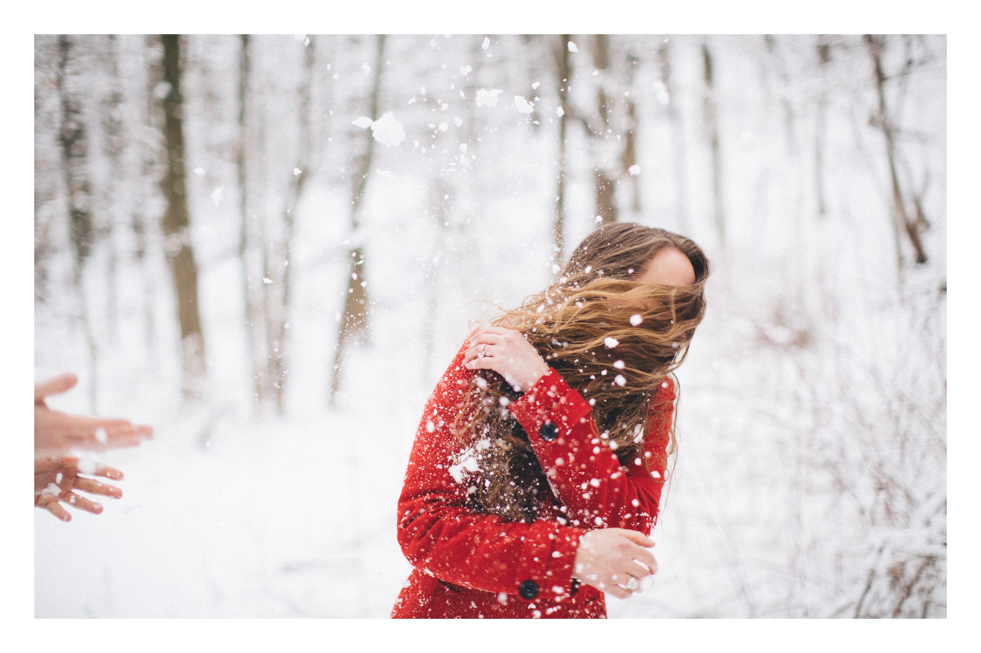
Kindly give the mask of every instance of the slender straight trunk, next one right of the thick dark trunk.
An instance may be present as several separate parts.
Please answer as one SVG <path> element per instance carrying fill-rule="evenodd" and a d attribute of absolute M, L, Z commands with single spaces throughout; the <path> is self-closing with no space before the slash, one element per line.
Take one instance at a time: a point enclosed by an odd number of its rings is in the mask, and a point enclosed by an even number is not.
<path fill-rule="evenodd" d="M 245 309 L 245 338 L 248 346 L 249 363 L 252 368 L 252 390 L 255 396 L 255 407 L 266 399 L 266 368 L 262 364 L 265 355 L 262 351 L 264 336 L 262 328 L 265 323 L 262 316 L 262 295 L 260 291 L 261 278 L 253 279 L 249 265 L 252 256 L 252 233 L 254 218 L 250 213 L 251 201 L 249 194 L 248 153 L 252 151 L 250 102 L 250 77 L 252 75 L 250 56 L 250 37 L 248 34 L 239 36 L 238 54 L 238 147 L 235 153 L 235 170 L 238 175 L 238 207 L 241 223 L 238 231 L 238 265 L 242 283 L 242 298 Z"/>

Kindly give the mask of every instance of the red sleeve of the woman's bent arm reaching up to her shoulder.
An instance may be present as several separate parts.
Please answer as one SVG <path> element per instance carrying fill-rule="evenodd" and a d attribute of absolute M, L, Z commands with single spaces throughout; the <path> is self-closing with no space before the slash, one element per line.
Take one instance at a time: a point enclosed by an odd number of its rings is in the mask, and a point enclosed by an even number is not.
<path fill-rule="evenodd" d="M 651 401 L 644 459 L 638 456 L 626 467 L 600 440 L 590 405 L 554 369 L 509 408 L 528 432 L 572 525 L 646 535 L 657 518 L 675 396 L 674 383 L 665 378 Z"/>

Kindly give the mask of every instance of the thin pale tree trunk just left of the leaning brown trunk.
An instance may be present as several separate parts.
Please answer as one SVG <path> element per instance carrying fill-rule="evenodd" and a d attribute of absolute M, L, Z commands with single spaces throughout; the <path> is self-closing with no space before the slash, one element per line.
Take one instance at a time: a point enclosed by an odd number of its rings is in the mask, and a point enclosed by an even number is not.
<path fill-rule="evenodd" d="M 286 387 L 286 369 L 283 357 L 285 354 L 286 330 L 289 326 L 290 300 L 290 251 L 292 248 L 295 217 L 293 212 L 299 204 L 306 180 L 310 178 L 310 111 L 311 84 L 313 83 L 314 45 L 308 41 L 304 51 L 303 79 L 299 88 L 299 147 L 296 154 L 296 165 L 289 179 L 289 191 L 283 211 L 283 251 L 282 267 L 279 283 L 273 283 L 272 288 L 279 287 L 275 294 L 278 300 L 266 306 L 267 361 L 269 370 L 270 392 L 276 402 L 276 410 L 281 415 L 284 412 L 284 396 Z"/>

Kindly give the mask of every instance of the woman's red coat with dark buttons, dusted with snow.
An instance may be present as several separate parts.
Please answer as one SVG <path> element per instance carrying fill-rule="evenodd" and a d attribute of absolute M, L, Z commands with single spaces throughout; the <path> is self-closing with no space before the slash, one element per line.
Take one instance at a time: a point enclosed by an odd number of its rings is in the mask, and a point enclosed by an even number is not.
<path fill-rule="evenodd" d="M 646 467 L 640 458 L 623 467 L 600 444 L 590 405 L 549 368 L 508 408 L 527 431 L 552 493 L 545 493 L 537 521 L 508 521 L 474 510 L 460 468 L 450 469 L 461 449 L 451 430 L 453 411 L 476 374 L 462 365 L 468 347 L 469 340 L 439 379 L 409 458 L 398 499 L 398 543 L 415 569 L 391 616 L 605 617 L 602 592 L 572 580 L 576 548 L 592 528 L 646 535 L 653 527 L 674 384 L 665 379 L 652 402 L 663 408 L 648 420 Z"/>

